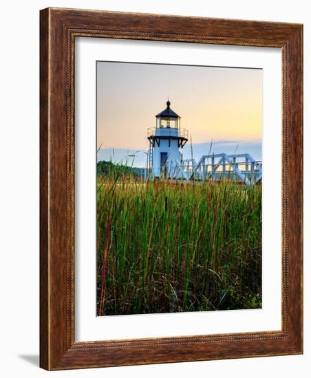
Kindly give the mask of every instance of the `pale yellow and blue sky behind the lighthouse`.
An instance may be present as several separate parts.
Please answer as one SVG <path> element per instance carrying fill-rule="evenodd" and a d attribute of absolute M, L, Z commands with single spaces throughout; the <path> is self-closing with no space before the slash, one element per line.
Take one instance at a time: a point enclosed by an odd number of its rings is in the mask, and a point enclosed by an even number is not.
<path fill-rule="evenodd" d="M 261 69 L 98 62 L 98 160 L 145 166 L 147 129 L 168 98 L 196 160 L 210 151 L 261 159 Z M 191 157 L 190 141 L 182 153 Z"/>

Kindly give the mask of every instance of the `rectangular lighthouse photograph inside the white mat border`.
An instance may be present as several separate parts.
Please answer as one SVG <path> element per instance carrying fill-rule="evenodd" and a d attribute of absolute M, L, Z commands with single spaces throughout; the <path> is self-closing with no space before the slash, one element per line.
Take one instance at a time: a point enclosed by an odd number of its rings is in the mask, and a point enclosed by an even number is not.
<path fill-rule="evenodd" d="M 261 308 L 262 70 L 96 63 L 96 313 Z"/>

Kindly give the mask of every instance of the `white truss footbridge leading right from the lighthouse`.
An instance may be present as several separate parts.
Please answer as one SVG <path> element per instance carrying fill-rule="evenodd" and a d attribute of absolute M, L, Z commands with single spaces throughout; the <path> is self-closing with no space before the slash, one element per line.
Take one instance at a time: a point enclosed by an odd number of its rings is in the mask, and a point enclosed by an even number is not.
<path fill-rule="evenodd" d="M 237 183 L 253 185 L 261 181 L 262 162 L 248 153 L 227 155 L 217 153 L 203 155 L 198 162 L 185 159 L 170 162 L 162 169 L 162 177 L 186 181 L 219 181 L 227 179 Z M 153 179 L 152 168 L 146 170 L 146 179 Z"/>

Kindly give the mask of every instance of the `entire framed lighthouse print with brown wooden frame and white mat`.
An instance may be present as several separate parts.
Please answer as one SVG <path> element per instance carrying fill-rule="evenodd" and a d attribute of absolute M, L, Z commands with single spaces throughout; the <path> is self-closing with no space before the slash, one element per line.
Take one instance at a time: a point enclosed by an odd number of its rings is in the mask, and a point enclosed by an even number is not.
<path fill-rule="evenodd" d="M 299 354 L 302 25 L 41 11 L 41 367 Z"/>

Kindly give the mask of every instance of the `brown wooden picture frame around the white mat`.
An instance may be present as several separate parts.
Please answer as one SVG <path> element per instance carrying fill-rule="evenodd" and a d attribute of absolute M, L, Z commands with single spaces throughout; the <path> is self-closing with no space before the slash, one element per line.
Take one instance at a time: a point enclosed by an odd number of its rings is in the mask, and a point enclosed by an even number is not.
<path fill-rule="evenodd" d="M 303 26 L 61 8 L 41 10 L 40 16 L 40 366 L 60 370 L 303 353 Z M 281 331 L 75 341 L 74 41 L 77 36 L 281 48 Z"/>

